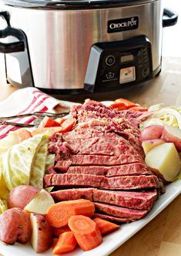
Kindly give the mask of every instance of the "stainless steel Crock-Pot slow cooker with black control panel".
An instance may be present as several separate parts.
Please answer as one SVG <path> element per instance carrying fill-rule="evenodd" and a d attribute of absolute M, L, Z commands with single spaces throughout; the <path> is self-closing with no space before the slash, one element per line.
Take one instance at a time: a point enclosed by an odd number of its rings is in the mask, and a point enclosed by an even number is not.
<path fill-rule="evenodd" d="M 14 86 L 102 92 L 153 79 L 163 28 L 177 22 L 161 0 L 0 0 L 0 52 Z"/>

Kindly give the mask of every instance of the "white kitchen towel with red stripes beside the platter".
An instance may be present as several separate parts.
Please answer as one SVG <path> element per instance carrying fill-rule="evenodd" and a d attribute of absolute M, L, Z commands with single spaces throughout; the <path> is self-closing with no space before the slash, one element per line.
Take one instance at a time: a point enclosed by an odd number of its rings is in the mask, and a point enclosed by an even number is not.
<path fill-rule="evenodd" d="M 24 113 L 33 113 L 35 111 L 55 112 L 54 108 L 58 106 L 59 113 L 69 111 L 69 106 L 72 103 L 60 101 L 39 89 L 28 87 L 18 89 L 8 99 L 0 103 L 0 116 L 15 116 Z M 62 110 L 62 111 L 61 111 Z M 34 116 L 24 117 L 23 119 L 15 119 L 16 123 L 32 123 L 35 120 Z M 10 131 L 18 130 L 18 126 L 0 126 L 0 140 L 3 139 Z"/>

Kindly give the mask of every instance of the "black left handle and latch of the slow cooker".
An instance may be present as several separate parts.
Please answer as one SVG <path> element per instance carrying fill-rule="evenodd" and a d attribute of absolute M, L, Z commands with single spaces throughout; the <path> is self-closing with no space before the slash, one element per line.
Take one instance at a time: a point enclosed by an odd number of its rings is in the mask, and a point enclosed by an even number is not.
<path fill-rule="evenodd" d="M 0 52 L 1 53 L 11 53 L 11 52 L 24 52 L 25 51 L 25 43 L 21 41 L 22 32 L 18 29 L 13 29 L 9 22 L 9 14 L 8 12 L 0 12 L 0 17 L 4 18 L 7 22 L 7 27 L 5 29 L 0 30 L 0 39 L 5 39 L 7 36 L 14 36 L 19 41 L 18 42 L 0 42 Z"/>

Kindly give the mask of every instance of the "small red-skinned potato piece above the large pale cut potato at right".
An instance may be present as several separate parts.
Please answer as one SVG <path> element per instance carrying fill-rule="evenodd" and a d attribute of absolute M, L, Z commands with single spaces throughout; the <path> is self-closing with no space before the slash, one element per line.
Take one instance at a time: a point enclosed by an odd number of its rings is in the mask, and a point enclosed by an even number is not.
<path fill-rule="evenodd" d="M 163 133 L 164 126 L 147 126 L 142 130 L 139 140 L 142 142 L 144 140 L 157 140 L 160 139 Z"/>

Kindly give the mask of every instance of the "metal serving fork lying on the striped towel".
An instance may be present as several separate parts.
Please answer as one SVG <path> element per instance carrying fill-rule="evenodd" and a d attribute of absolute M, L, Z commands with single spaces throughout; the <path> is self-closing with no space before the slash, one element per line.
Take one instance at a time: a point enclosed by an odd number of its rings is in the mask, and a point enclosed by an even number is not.
<path fill-rule="evenodd" d="M 21 115 L 16 115 L 16 116 L 6 116 L 6 117 L 0 117 L 0 125 L 11 125 L 11 126 L 20 126 L 20 127 L 33 127 L 33 126 L 39 126 L 39 123 L 45 116 L 49 116 L 52 119 L 56 118 L 61 118 L 63 116 L 67 116 L 69 113 L 64 112 L 64 113 L 49 113 L 49 112 L 41 112 L 41 111 L 36 111 L 34 113 L 25 113 Z M 36 120 L 34 123 L 16 123 L 16 122 L 8 122 L 8 120 L 13 120 L 17 118 L 23 118 L 27 116 L 35 116 Z"/>

